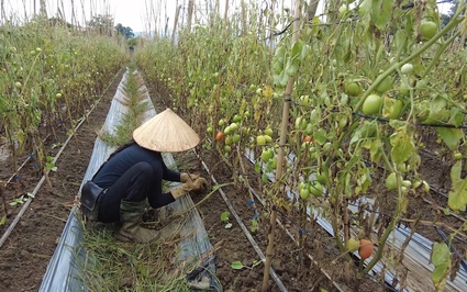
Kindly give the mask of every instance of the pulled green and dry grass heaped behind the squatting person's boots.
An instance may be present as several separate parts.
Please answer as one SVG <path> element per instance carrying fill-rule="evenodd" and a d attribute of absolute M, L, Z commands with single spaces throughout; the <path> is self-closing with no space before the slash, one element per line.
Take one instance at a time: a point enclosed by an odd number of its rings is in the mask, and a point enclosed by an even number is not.
<path fill-rule="evenodd" d="M 152 243 L 133 244 L 116 242 L 114 232 L 99 223 L 85 228 L 80 280 L 88 291 L 189 291 L 186 274 L 194 266 L 175 260 L 178 233 L 170 229 Z"/>

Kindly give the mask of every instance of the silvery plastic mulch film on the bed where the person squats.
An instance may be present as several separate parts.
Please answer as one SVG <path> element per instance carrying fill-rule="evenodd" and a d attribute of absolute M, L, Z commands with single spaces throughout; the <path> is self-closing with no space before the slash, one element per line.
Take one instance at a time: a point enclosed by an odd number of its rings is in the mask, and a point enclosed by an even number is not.
<path fill-rule="evenodd" d="M 122 81 L 112 100 L 105 122 L 102 126 L 103 132 L 113 133 L 116 125 L 122 121 L 126 113 L 124 101 L 124 85 L 127 75 L 123 76 Z M 134 74 L 137 74 L 136 71 Z M 151 104 L 151 110 L 145 112 L 143 121 L 151 119 L 156 114 L 152 105 L 151 98 L 147 93 L 146 87 L 143 85 L 140 88 L 143 96 L 146 97 L 145 102 Z M 104 162 L 104 160 L 114 151 L 114 148 L 109 147 L 99 137 L 96 139 L 92 155 L 85 173 L 82 184 L 92 178 L 93 173 Z M 175 165 L 174 158 L 170 154 L 165 154 L 164 159 L 167 166 Z M 171 186 L 176 186 L 174 183 Z M 80 195 L 80 192 L 78 193 Z M 193 206 L 193 202 L 189 195 L 184 195 L 176 202 L 159 209 L 159 215 L 184 212 Z M 163 218 L 163 217 L 162 217 Z M 84 291 L 85 285 L 80 280 L 80 265 L 78 262 L 85 261 L 86 250 L 84 249 L 82 242 L 82 222 L 78 210 L 71 210 L 60 240 L 55 249 L 55 252 L 47 266 L 44 274 L 43 282 L 38 291 Z M 162 231 L 164 232 L 164 229 Z M 187 276 L 188 282 L 191 284 L 193 291 L 208 290 L 222 291 L 222 288 L 215 277 L 215 258 L 213 247 L 208 239 L 203 221 L 198 211 L 193 207 L 187 213 L 184 225 L 180 226 L 179 243 L 181 254 L 179 254 L 178 261 L 200 263 L 190 274 Z"/>

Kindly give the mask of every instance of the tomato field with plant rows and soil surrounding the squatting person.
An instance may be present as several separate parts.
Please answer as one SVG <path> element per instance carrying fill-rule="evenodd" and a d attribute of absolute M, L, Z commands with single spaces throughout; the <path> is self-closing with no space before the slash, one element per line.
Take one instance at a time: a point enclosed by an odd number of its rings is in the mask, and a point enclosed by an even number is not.
<path fill-rule="evenodd" d="M 210 180 L 191 199 L 222 291 L 466 291 L 467 4 L 219 3 L 184 1 L 151 40 L 43 15 L 0 26 L 0 291 L 40 289 L 96 138 L 129 141 L 146 91 L 201 137 L 173 155 Z M 84 226 L 90 291 L 190 290 L 169 259 L 181 239 Z"/>

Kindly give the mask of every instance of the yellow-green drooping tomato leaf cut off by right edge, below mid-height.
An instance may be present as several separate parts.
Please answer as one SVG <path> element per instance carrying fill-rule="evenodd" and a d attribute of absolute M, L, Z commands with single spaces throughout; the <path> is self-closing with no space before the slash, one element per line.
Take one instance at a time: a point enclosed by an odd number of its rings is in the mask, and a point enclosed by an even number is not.
<path fill-rule="evenodd" d="M 451 180 L 453 186 L 451 187 L 452 190 L 449 191 L 447 204 L 454 211 L 464 211 L 467 204 L 467 178 L 460 178 L 462 169 L 462 161 L 457 161 L 451 169 Z"/>

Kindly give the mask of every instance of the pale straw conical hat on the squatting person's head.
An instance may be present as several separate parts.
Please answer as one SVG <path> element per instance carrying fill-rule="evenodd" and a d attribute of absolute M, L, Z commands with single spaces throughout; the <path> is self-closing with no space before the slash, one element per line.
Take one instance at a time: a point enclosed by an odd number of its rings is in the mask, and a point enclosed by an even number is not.
<path fill-rule="evenodd" d="M 137 127 L 133 139 L 141 147 L 160 153 L 188 150 L 200 142 L 198 134 L 170 109 Z"/>

